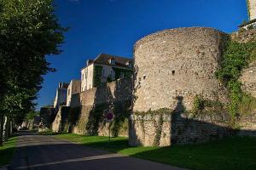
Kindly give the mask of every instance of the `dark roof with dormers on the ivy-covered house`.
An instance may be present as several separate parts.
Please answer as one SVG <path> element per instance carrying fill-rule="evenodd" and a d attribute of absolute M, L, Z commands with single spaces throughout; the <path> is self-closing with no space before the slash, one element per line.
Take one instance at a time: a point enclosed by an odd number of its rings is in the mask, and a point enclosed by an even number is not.
<path fill-rule="evenodd" d="M 114 59 L 115 65 L 120 67 L 125 67 L 127 69 L 131 69 L 128 65 L 126 65 L 127 62 L 132 62 L 132 59 L 125 58 L 125 57 L 119 57 L 115 55 L 110 54 L 99 54 L 96 59 L 89 59 L 89 65 L 92 63 L 99 64 L 99 65 L 110 65 L 109 59 Z M 86 65 L 87 66 L 87 65 Z M 86 67 L 85 66 L 85 67 Z"/>

